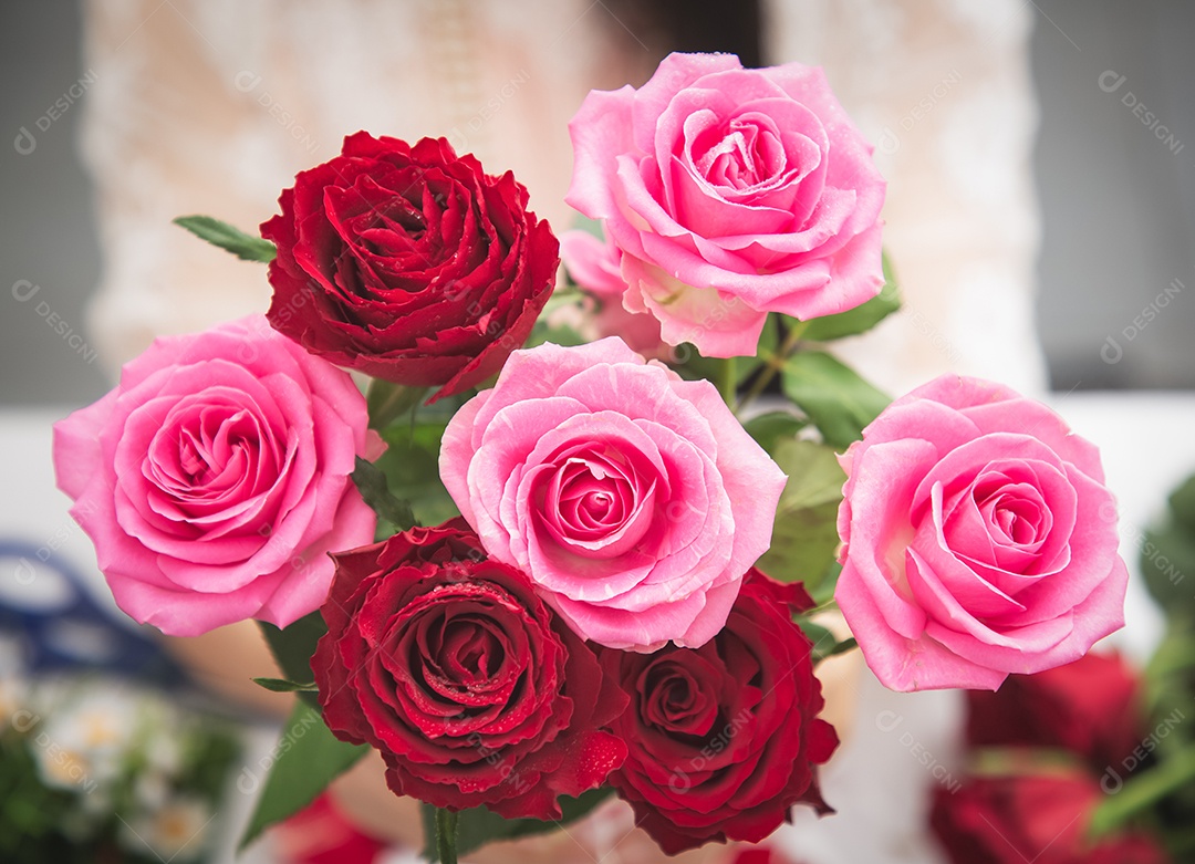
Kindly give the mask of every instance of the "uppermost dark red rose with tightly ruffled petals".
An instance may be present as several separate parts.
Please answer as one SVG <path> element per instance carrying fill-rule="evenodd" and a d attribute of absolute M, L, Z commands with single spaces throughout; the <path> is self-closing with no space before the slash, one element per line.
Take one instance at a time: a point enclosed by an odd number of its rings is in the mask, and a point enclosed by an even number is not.
<path fill-rule="evenodd" d="M 339 366 L 443 385 L 435 398 L 498 372 L 552 293 L 559 244 L 527 190 L 443 139 L 349 135 L 278 203 L 270 324 Z"/>

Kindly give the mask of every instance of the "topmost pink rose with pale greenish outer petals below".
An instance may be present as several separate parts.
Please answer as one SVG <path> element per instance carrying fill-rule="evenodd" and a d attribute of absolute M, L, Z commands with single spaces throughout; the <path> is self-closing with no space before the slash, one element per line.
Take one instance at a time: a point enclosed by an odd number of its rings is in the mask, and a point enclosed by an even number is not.
<path fill-rule="evenodd" d="M 625 305 L 664 342 L 753 355 L 768 312 L 880 293 L 884 180 L 821 69 L 672 54 L 639 90 L 590 92 L 569 131 L 566 200 L 603 220 Z"/>

